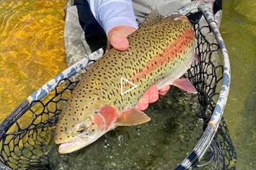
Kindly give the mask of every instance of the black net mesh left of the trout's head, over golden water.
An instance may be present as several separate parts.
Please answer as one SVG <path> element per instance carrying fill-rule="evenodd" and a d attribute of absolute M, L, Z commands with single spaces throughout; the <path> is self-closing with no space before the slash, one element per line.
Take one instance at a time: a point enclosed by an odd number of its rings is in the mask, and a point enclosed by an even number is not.
<path fill-rule="evenodd" d="M 13 169 L 49 169 L 43 147 L 50 142 L 52 127 L 76 83 L 63 79 L 47 97 L 30 104 L 28 111 L 2 137 L 0 149 L 4 164 Z"/>

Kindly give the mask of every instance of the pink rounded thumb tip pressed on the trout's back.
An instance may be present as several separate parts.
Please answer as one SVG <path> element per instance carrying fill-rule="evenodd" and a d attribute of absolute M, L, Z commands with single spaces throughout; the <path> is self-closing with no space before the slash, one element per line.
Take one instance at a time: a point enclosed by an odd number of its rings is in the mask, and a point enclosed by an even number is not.
<path fill-rule="evenodd" d="M 129 42 L 125 35 L 119 31 L 113 31 L 109 35 L 109 43 L 115 49 L 123 51 L 129 47 Z"/>

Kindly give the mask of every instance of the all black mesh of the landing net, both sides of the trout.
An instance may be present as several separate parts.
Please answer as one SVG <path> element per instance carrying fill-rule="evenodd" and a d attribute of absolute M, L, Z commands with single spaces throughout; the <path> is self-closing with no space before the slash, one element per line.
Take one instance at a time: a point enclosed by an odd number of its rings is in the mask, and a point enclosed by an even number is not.
<path fill-rule="evenodd" d="M 207 25 L 201 25 L 198 15 L 201 16 L 199 13 L 191 15 L 190 20 L 196 32 L 196 52 L 200 61 L 194 63 L 185 76 L 198 91 L 200 112 L 197 117 L 203 120 L 202 130 L 205 130 L 219 95 L 223 66 L 218 64 L 218 60 L 221 60 L 218 56 L 219 46 L 209 42 L 213 36 L 211 30 Z M 4 133 L 0 136 L 0 161 L 4 165 L 13 169 L 51 169 L 47 157 L 50 150 L 46 146 L 50 143 L 54 124 L 77 82 L 61 80 L 44 99 L 28 105 L 29 109 L 22 112 L 19 118 L 17 113 L 9 115 L 10 120 L 17 119 L 13 124 L 1 124 Z M 6 128 L 8 130 L 5 131 Z M 235 169 L 235 161 L 236 152 L 222 119 L 217 135 L 196 169 Z"/>

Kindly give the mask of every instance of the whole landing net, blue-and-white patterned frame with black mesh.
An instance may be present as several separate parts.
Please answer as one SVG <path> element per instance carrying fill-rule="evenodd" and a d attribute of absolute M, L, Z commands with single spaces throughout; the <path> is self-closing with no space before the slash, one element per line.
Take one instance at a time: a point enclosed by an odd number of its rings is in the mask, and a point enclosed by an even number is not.
<path fill-rule="evenodd" d="M 193 2 L 173 13 L 189 16 L 196 32 L 200 61 L 191 65 L 186 76 L 198 91 L 201 105 L 198 116 L 204 121 L 201 139 L 174 169 L 235 169 L 236 152 L 222 118 L 230 84 L 229 57 L 208 9 L 205 4 Z M 207 21 L 205 26 L 199 24 L 202 15 Z M 207 40 L 210 35 L 217 43 Z M 222 65 L 213 63 L 214 53 L 222 54 Z M 47 158 L 49 151 L 45 148 L 58 115 L 79 81 L 73 75 L 86 71 L 102 54 L 103 49 L 99 49 L 68 67 L 5 118 L 0 124 L 0 169 L 51 169 Z"/>

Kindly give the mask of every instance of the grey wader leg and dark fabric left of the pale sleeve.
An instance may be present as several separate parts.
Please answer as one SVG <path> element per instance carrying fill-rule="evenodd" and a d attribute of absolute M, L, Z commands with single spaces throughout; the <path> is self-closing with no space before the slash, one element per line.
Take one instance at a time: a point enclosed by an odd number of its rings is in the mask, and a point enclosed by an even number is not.
<path fill-rule="evenodd" d="M 87 1 L 69 0 L 66 7 L 64 41 L 68 66 L 106 46 L 106 34 L 95 20 Z"/>

